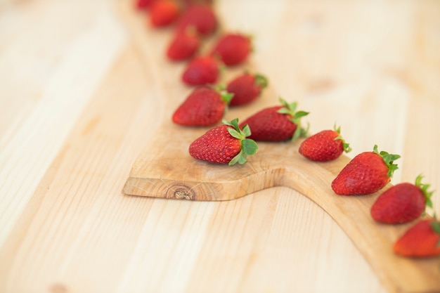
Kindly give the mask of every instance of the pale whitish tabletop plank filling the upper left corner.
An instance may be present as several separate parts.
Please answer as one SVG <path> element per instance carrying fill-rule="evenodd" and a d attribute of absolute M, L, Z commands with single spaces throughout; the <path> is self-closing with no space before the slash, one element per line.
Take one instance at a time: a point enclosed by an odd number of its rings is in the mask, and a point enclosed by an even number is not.
<path fill-rule="evenodd" d="M 81 28 L 73 25 L 70 18 L 58 19 L 72 8 L 70 4 L 23 6 L 23 11 L 16 8 L 16 15 L 11 11 L 22 31 L 5 46 L 0 58 L 0 96 L 7 109 L 0 122 L 0 225 L 4 227 L 0 230 L 0 244 L 11 231 L 10 223 L 18 219 L 37 188 L 43 176 L 41 169 L 47 169 L 56 157 L 119 55 L 125 37 L 121 27 L 105 12 L 94 15 L 89 26 Z M 27 9 L 44 11 L 39 17 L 45 21 L 34 27 L 20 22 L 30 13 Z M 89 20 L 79 13 L 80 7 L 75 9 L 79 14 L 75 20 Z M 48 30 L 55 26 L 60 30 Z M 63 41 L 63 34 L 70 39 Z M 31 47 L 36 53 L 27 53 Z"/>

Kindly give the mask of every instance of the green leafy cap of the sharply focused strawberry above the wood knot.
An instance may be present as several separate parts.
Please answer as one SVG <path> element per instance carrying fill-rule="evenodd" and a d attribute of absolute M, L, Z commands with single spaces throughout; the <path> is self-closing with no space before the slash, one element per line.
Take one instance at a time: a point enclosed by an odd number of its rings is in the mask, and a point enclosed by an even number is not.
<path fill-rule="evenodd" d="M 240 152 L 238 152 L 238 154 L 231 159 L 229 166 L 232 166 L 236 163 L 245 164 L 245 162 L 247 162 L 246 157 L 248 155 L 254 155 L 258 150 L 257 143 L 252 139 L 247 138 L 247 136 L 251 135 L 250 127 L 246 124 L 242 127 L 242 129 L 240 129 L 240 126 L 238 126 L 238 118 L 233 119 L 231 122 L 223 119 L 222 122 L 228 126 L 231 126 L 228 127 L 229 134 L 231 134 L 232 137 L 240 140 L 241 143 Z"/>

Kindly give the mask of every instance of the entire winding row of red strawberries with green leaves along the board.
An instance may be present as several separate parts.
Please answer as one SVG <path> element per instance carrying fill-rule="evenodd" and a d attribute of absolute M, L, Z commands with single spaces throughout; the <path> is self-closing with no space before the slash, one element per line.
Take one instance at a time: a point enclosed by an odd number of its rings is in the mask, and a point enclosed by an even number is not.
<path fill-rule="evenodd" d="M 226 86 L 212 86 L 219 78 L 221 65 L 243 63 L 252 50 L 250 37 L 242 34 L 224 34 L 216 41 L 209 54 L 197 56 L 203 37 L 214 34 L 217 18 L 210 1 L 137 0 L 140 10 L 148 10 L 150 25 L 174 25 L 175 34 L 167 48 L 170 60 L 189 60 L 182 81 L 195 89 L 176 109 L 172 120 L 183 126 L 214 126 L 190 144 L 189 153 L 195 159 L 219 164 L 244 164 L 248 155 L 257 152 L 256 141 L 295 141 L 304 137 L 299 153 L 318 162 L 337 159 L 351 148 L 340 134 L 340 127 L 308 136 L 301 118 L 308 112 L 297 110 L 297 103 L 265 108 L 239 123 L 223 118 L 228 106 L 246 105 L 261 94 L 267 86 L 266 77 L 244 72 Z M 252 129 L 252 131 L 251 131 Z M 377 150 L 356 155 L 339 172 L 331 187 L 337 195 L 367 195 L 384 188 L 398 168 L 394 161 L 399 155 Z M 399 183 L 377 197 L 370 209 L 380 223 L 408 223 L 419 219 L 426 207 L 432 208 L 428 184 Z M 394 252 L 403 256 L 440 255 L 440 221 L 422 219 L 411 226 L 394 244 Z"/>

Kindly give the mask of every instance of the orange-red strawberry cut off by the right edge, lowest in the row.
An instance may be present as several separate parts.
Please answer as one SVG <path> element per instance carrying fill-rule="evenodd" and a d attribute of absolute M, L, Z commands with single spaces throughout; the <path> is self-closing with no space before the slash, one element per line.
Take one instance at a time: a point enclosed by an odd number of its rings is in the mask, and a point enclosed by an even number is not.
<path fill-rule="evenodd" d="M 394 252 L 402 256 L 440 255 L 440 222 L 425 219 L 415 223 L 394 243 Z"/>

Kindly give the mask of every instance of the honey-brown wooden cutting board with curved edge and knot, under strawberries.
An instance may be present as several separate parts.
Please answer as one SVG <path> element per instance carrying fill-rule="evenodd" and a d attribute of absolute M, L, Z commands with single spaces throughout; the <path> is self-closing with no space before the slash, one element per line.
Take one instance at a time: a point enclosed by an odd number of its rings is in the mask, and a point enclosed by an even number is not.
<path fill-rule="evenodd" d="M 330 183 L 349 162 L 349 157 L 343 155 L 334 162 L 311 162 L 298 153 L 301 141 L 259 143 L 257 154 L 249 157 L 247 164 L 233 167 L 209 164 L 190 157 L 188 146 L 209 128 L 177 126 L 171 121 L 172 112 L 191 91 L 180 81 L 184 64 L 170 63 L 164 58 L 172 32 L 148 29 L 144 18 L 131 6 L 122 4 L 120 12 L 136 41 L 144 65 L 154 72 L 155 82 L 162 85 L 157 99 L 160 99 L 164 113 L 152 143 L 145 146 L 134 162 L 123 189 L 126 195 L 220 201 L 234 200 L 273 186 L 293 188 L 335 219 L 389 292 L 440 292 L 439 258 L 407 259 L 392 252 L 393 243 L 408 228 L 408 224 L 382 225 L 370 217 L 370 207 L 375 198 L 390 184 L 372 195 L 339 196 L 332 192 Z M 207 40 L 208 48 L 210 41 Z M 228 68 L 221 82 L 227 82 L 243 70 L 258 72 L 250 60 L 243 66 Z M 231 108 L 225 118 L 238 117 L 242 120 L 261 108 L 277 105 L 275 93 L 269 86 L 257 102 Z M 301 105 L 299 108 L 302 109 Z"/>

